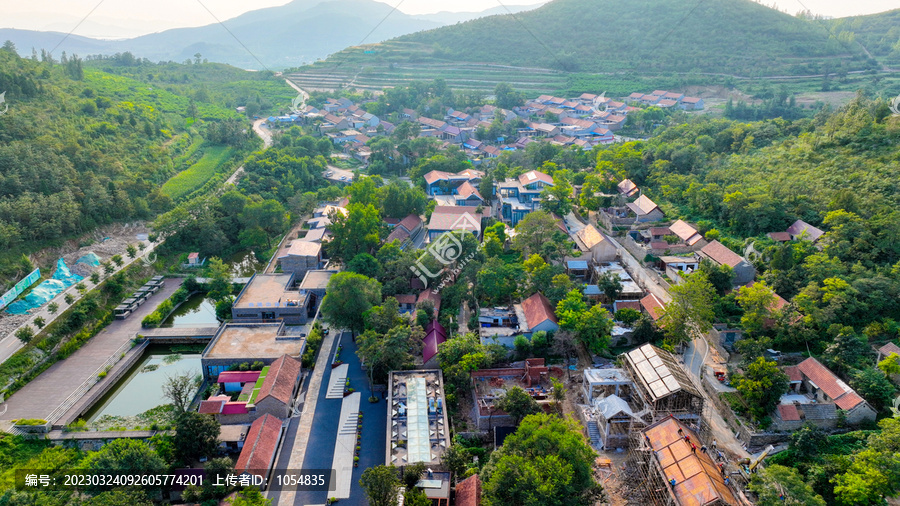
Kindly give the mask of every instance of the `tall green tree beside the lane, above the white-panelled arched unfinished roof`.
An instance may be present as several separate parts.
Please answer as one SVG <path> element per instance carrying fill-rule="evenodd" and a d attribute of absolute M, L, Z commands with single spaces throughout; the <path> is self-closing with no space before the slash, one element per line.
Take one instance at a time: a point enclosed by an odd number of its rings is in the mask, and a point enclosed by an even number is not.
<path fill-rule="evenodd" d="M 672 286 L 672 301 L 665 305 L 659 325 L 675 344 L 686 343 L 705 335 L 712 328 L 715 316 L 715 289 L 702 272 L 685 278 L 684 283 Z"/>

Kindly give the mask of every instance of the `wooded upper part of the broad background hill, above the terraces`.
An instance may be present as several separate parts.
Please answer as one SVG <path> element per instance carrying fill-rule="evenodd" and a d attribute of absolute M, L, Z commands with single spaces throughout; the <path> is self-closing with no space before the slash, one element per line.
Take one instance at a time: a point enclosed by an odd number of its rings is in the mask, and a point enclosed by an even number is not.
<path fill-rule="evenodd" d="M 871 65 L 818 22 L 750 0 L 555 0 L 400 37 L 433 56 L 569 71 L 815 74 Z"/>

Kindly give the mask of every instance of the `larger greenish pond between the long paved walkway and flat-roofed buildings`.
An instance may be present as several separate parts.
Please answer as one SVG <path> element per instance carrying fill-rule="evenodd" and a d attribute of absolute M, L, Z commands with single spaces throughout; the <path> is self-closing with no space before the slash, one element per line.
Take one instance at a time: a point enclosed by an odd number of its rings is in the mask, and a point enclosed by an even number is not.
<path fill-rule="evenodd" d="M 152 346 L 143 358 L 104 395 L 90 411 L 88 422 L 103 415 L 135 416 L 169 401 L 163 396 L 163 385 L 169 376 L 187 373 L 200 374 L 200 352 L 173 353 L 166 346 Z"/>

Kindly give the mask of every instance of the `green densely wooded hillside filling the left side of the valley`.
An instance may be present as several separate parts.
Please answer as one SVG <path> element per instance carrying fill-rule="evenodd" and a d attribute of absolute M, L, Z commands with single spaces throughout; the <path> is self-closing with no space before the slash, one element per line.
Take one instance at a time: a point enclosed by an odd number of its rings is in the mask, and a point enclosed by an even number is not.
<path fill-rule="evenodd" d="M 89 64 L 64 53 L 25 59 L 12 49 L 0 50 L 9 106 L 0 115 L 0 287 L 28 267 L 23 253 L 168 210 L 180 196 L 160 191 L 169 178 L 216 146 L 231 151 L 213 173 L 257 145 L 232 107 L 272 105 L 254 100 L 247 82 L 220 87 L 251 74 L 224 65 L 157 66 L 130 55 Z M 256 76 L 245 80 L 265 78 Z"/>

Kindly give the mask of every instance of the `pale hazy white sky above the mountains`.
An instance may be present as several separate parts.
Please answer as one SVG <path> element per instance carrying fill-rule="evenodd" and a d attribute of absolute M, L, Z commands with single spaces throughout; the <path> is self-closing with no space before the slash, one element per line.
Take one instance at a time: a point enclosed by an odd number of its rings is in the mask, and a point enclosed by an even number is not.
<path fill-rule="evenodd" d="M 394 6 L 399 4 L 399 10 L 407 14 L 428 14 L 482 11 L 503 4 L 532 5 L 545 0 L 381 1 Z M 693 3 L 695 0 L 687 1 Z M 224 21 L 249 10 L 286 3 L 288 0 L 4 0 L 0 2 L 0 28 L 68 33 L 87 16 L 74 33 L 99 38 L 135 37 L 169 28 L 207 25 L 214 23 L 216 18 Z M 898 7 L 897 0 L 760 0 L 760 3 L 775 5 L 788 14 L 805 10 L 805 6 L 813 13 L 833 17 L 871 14 Z"/>

